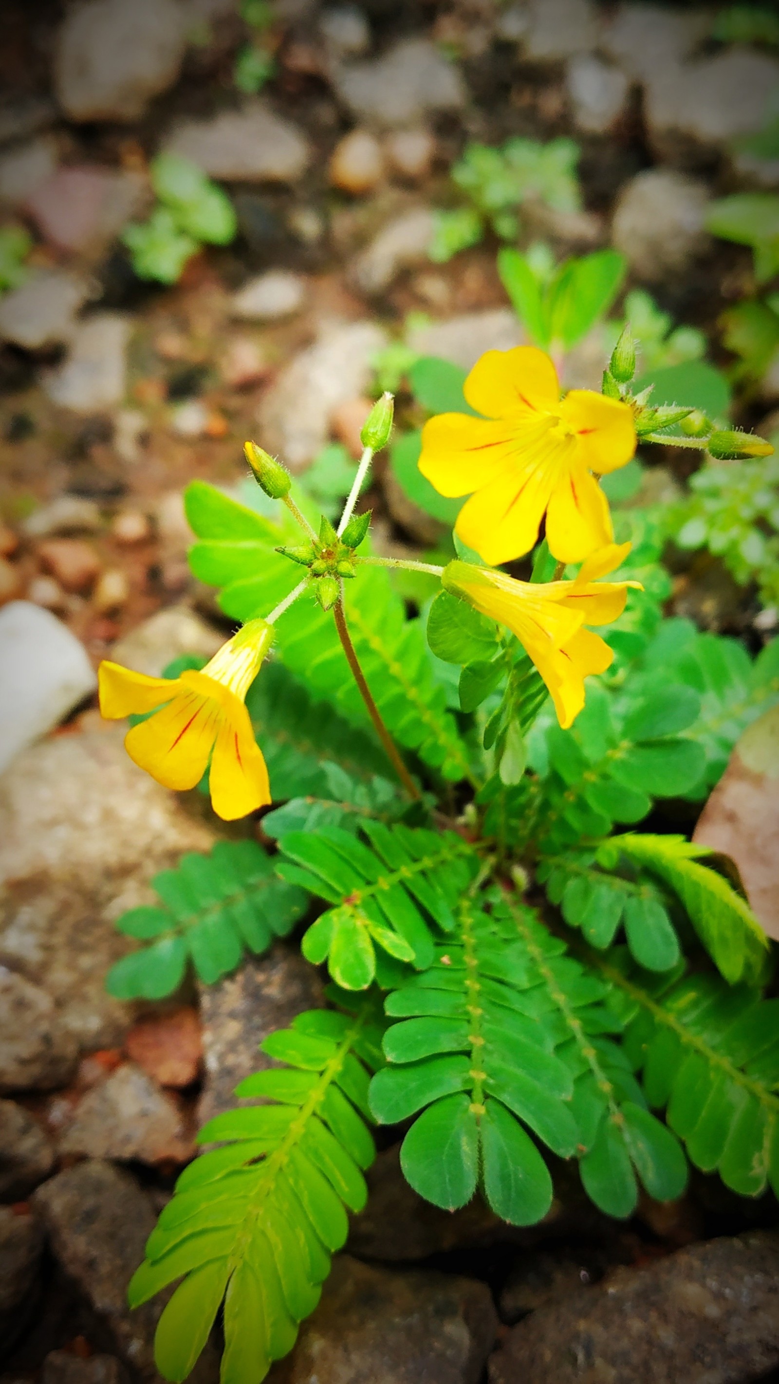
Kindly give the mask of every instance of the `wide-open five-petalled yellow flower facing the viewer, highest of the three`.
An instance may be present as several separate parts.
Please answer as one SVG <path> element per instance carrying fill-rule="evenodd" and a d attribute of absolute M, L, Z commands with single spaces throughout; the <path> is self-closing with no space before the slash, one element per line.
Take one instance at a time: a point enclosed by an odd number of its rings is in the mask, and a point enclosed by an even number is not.
<path fill-rule="evenodd" d="M 592 472 L 635 451 L 628 404 L 591 389 L 560 399 L 555 367 L 535 346 L 488 350 L 464 393 L 483 418 L 439 414 L 425 424 L 419 471 L 441 495 L 466 495 L 457 533 L 493 566 L 530 552 L 547 515 L 559 562 L 583 562 L 613 541 Z"/>

